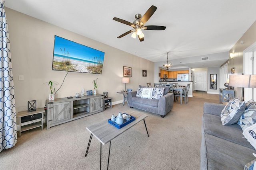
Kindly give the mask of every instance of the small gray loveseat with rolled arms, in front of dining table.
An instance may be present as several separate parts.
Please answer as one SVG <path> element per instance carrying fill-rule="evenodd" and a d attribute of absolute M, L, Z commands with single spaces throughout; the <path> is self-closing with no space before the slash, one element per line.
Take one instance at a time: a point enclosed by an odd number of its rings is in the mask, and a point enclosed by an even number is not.
<path fill-rule="evenodd" d="M 143 87 L 143 86 L 140 86 Z M 164 117 L 169 113 L 173 107 L 174 95 L 173 93 L 168 93 L 169 87 L 163 87 L 164 96 L 157 99 L 146 99 L 136 97 L 137 91 L 129 92 L 127 95 L 128 106 L 135 107 L 144 111 L 149 111 L 151 113 L 159 114 L 161 117 Z"/>

